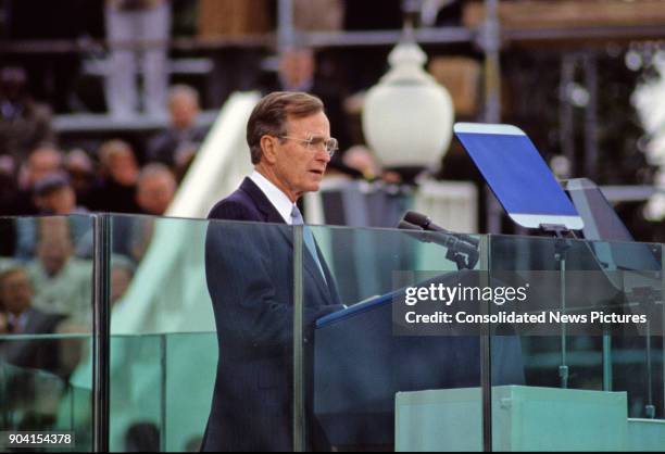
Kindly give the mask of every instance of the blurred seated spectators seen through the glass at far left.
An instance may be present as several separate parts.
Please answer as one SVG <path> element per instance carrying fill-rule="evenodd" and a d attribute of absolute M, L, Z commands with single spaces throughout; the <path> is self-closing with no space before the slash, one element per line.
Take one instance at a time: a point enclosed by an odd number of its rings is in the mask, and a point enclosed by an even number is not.
<path fill-rule="evenodd" d="M 34 255 L 0 257 L 0 367 L 9 364 L 65 378 L 89 350 L 85 340 L 92 331 L 93 264 L 76 250 L 90 247 L 92 237 L 87 231 L 76 234 L 73 217 L 34 220 Z M 114 254 L 111 263 L 113 306 L 127 291 L 136 261 Z M 24 337 L 14 339 L 14 335 Z"/>

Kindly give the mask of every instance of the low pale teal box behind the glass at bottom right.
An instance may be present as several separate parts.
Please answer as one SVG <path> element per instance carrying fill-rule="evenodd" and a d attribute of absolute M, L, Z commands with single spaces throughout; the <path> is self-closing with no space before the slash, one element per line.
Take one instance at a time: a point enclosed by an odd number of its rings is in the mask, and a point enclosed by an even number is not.
<path fill-rule="evenodd" d="M 492 387 L 492 450 L 625 451 L 627 406 L 626 392 Z M 479 388 L 403 392 L 396 408 L 396 451 L 482 451 Z"/>

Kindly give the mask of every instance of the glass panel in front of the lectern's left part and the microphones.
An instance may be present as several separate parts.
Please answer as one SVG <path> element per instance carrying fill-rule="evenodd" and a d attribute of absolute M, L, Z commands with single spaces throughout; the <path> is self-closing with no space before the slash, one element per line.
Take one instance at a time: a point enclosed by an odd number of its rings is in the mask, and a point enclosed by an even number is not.
<path fill-rule="evenodd" d="M 304 301 L 316 313 L 302 327 L 306 447 L 480 451 L 478 336 L 400 332 L 409 288 L 482 278 L 478 247 L 436 234 L 308 228 L 319 264 L 305 248 Z"/>

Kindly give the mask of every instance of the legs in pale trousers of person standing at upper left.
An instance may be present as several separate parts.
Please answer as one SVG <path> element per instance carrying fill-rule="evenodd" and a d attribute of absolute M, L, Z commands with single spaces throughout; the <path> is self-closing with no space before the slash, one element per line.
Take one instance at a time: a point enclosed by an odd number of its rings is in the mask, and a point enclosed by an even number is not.
<path fill-rule="evenodd" d="M 142 108 L 164 115 L 171 30 L 168 0 L 105 0 L 106 37 L 111 58 L 106 75 L 106 104 L 112 116 L 135 116 L 139 110 L 137 58 L 143 74 Z M 133 48 L 130 41 L 146 41 Z M 136 43 L 134 43 L 136 46 Z"/>

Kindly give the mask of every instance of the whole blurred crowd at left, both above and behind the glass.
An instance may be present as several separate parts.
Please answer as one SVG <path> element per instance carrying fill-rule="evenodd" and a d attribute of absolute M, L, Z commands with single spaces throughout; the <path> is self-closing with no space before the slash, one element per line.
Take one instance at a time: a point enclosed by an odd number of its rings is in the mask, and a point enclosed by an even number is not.
<path fill-rule="evenodd" d="M 18 381 L 42 371 L 66 379 L 87 356 L 93 279 L 87 214 L 121 214 L 113 219 L 109 297 L 122 302 L 153 230 L 148 217 L 122 215 L 163 215 L 208 133 L 196 122 L 192 88 L 173 87 L 168 109 L 170 126 L 140 153 L 116 137 L 97 150 L 63 150 L 49 109 L 26 94 L 25 73 L 0 71 L 0 216 L 11 216 L 0 217 L 0 369 L 16 371 Z"/>

